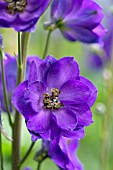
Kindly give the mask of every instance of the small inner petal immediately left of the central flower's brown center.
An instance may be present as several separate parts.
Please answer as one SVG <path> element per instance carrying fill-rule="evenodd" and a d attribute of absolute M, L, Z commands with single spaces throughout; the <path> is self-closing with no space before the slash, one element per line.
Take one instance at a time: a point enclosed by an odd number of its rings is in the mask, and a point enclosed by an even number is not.
<path fill-rule="evenodd" d="M 43 82 L 33 82 L 29 84 L 29 98 L 34 111 L 38 112 L 43 106 L 43 94 L 46 92 L 46 87 Z"/>

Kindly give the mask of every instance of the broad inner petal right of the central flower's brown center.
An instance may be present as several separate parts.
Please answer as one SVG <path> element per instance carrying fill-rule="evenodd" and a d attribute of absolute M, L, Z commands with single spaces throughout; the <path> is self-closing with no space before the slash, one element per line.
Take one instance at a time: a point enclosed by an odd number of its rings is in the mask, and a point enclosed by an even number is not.
<path fill-rule="evenodd" d="M 89 87 L 79 80 L 69 80 L 60 89 L 60 101 L 87 101 L 91 96 Z"/>

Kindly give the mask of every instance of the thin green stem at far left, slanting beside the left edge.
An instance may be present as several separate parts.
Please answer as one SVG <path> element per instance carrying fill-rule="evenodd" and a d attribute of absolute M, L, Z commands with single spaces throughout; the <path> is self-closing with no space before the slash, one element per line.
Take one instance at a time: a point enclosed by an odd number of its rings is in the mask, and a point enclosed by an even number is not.
<path fill-rule="evenodd" d="M 6 106 L 6 111 L 7 111 L 9 124 L 12 127 L 13 122 L 11 120 L 10 107 L 9 107 L 9 101 L 8 101 L 8 96 L 7 96 L 7 88 L 6 88 L 6 82 L 5 82 L 5 71 L 4 71 L 4 62 L 3 62 L 3 51 L 2 51 L 1 48 L 0 48 L 0 61 L 1 61 L 1 72 L 2 72 L 2 84 L 3 84 L 4 101 L 5 101 L 5 106 Z"/>

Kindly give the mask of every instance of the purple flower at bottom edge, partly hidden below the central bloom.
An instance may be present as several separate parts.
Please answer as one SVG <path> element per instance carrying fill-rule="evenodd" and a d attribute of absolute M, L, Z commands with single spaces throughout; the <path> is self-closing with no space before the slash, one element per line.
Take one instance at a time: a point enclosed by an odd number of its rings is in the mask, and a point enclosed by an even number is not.
<path fill-rule="evenodd" d="M 48 157 L 61 170 L 83 170 L 83 165 L 79 161 L 76 151 L 78 148 L 78 141 L 68 139 L 65 137 L 56 138 L 50 142 L 44 141 Z"/>

